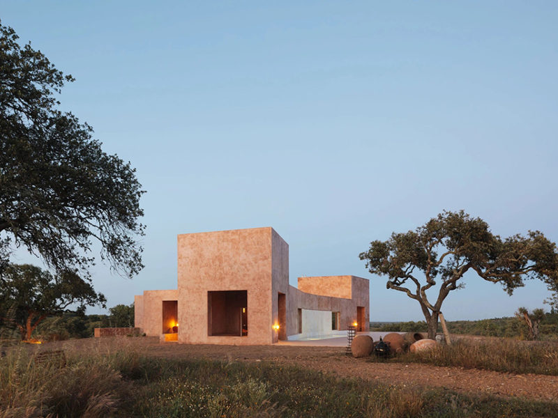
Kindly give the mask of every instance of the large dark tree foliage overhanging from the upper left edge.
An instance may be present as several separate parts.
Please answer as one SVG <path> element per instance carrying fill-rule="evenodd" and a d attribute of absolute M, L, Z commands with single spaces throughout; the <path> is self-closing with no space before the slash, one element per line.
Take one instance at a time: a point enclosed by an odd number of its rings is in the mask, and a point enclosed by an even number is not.
<path fill-rule="evenodd" d="M 0 258 L 24 247 L 61 272 L 88 274 L 101 258 L 132 277 L 143 265 L 136 238 L 142 189 L 130 163 L 107 155 L 92 129 L 57 109 L 71 75 L 0 24 Z"/>

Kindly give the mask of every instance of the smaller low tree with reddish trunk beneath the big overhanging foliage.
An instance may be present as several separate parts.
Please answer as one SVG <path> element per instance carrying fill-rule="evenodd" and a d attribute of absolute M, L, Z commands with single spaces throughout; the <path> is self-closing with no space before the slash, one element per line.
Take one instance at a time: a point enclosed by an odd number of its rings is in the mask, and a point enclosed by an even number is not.
<path fill-rule="evenodd" d="M 72 271 L 53 275 L 34 265 L 8 265 L 0 282 L 0 314 L 20 330 L 22 339 L 31 339 L 43 319 L 70 311 L 70 305 L 77 304 L 77 311 L 95 304 L 105 307 L 105 296 Z"/>

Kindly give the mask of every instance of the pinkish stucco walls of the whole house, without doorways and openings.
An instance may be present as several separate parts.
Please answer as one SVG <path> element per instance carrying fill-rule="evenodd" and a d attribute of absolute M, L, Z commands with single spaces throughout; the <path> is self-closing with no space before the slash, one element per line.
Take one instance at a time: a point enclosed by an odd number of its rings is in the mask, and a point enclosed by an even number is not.
<path fill-rule="evenodd" d="M 178 301 L 180 343 L 271 344 L 298 333 L 298 309 L 340 312 L 346 330 L 365 308 L 369 329 L 367 279 L 355 276 L 299 277 L 289 285 L 289 245 L 271 227 L 178 235 L 178 288 L 144 291 L 135 297 L 135 326 L 162 336 L 163 300 Z M 246 291 L 247 336 L 208 335 L 208 292 Z M 284 294 L 285 321 L 279 297 Z M 325 314 L 323 314 L 325 317 Z M 273 325 L 281 324 L 280 330 Z"/>

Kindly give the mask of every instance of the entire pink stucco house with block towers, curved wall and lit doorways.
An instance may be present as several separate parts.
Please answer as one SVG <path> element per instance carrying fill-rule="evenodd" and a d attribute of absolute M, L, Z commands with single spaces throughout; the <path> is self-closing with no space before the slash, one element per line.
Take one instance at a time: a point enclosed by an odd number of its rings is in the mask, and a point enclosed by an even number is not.
<path fill-rule="evenodd" d="M 257 345 L 368 331 L 368 279 L 299 277 L 272 228 L 178 235 L 178 288 L 135 296 L 135 326 L 161 341 Z"/>

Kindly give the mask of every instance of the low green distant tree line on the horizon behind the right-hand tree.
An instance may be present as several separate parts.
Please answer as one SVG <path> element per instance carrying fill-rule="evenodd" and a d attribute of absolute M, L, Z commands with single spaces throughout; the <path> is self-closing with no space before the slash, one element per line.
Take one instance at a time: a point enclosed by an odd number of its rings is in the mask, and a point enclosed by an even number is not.
<path fill-rule="evenodd" d="M 452 334 L 469 334 L 482 336 L 504 336 L 508 338 L 530 339 L 529 327 L 518 316 L 482 320 L 446 321 Z M 543 314 L 539 326 L 541 339 L 558 339 L 558 311 Z M 400 323 L 370 323 L 371 331 L 378 332 L 427 332 L 425 321 L 408 321 Z M 437 332 L 442 332 L 438 327 Z"/>

